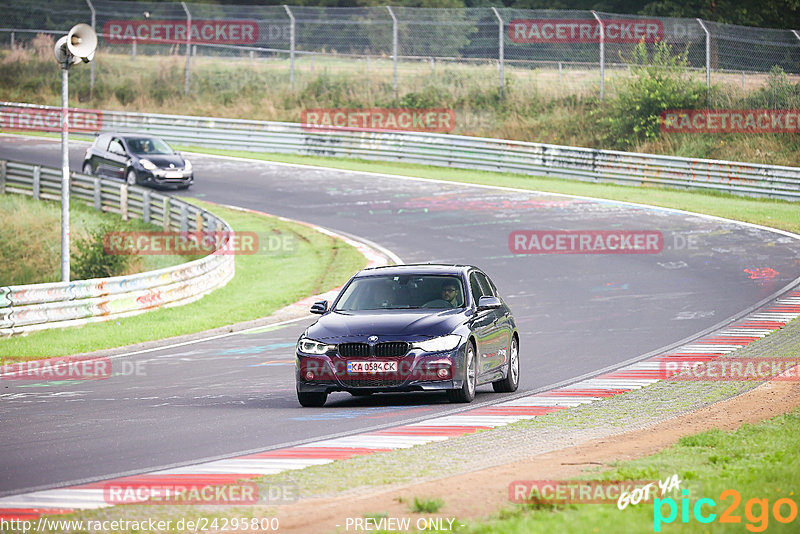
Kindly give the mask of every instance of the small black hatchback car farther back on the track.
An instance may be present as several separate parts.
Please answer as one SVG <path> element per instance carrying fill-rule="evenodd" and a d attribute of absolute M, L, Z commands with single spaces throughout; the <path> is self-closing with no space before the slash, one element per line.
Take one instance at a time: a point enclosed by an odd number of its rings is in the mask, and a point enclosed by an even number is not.
<path fill-rule="evenodd" d="M 103 133 L 86 149 L 84 174 L 125 180 L 129 185 L 156 185 L 186 189 L 194 171 L 161 138 L 141 134 Z"/>

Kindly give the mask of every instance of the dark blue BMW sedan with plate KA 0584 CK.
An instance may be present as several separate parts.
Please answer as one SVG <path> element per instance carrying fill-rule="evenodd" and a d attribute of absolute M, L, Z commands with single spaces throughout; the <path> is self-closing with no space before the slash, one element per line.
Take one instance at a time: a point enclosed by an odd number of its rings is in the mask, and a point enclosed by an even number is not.
<path fill-rule="evenodd" d="M 519 334 L 486 274 L 469 265 L 364 269 L 297 341 L 295 378 L 303 406 L 328 394 L 446 391 L 471 402 L 475 388 L 519 385 Z"/>

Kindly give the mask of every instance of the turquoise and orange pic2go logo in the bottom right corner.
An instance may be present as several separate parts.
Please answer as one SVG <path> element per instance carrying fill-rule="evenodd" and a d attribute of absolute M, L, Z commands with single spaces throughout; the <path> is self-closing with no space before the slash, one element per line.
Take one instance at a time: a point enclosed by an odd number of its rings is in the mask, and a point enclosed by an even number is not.
<path fill-rule="evenodd" d="M 713 499 L 702 498 L 695 501 L 694 506 L 689 503 L 689 490 L 682 490 L 680 513 L 681 523 L 688 523 L 691 511 L 694 520 L 698 523 L 713 523 L 717 519 L 717 514 L 711 512 L 717 506 Z M 736 490 L 725 490 L 719 494 L 719 500 L 732 500 L 731 504 L 719 515 L 720 523 L 741 523 L 742 516 L 736 515 L 742 496 Z M 704 508 L 704 506 L 706 508 Z M 668 510 L 665 516 L 665 508 Z M 748 523 L 745 528 L 750 532 L 764 532 L 769 526 L 770 512 L 778 523 L 791 523 L 797 519 L 797 503 L 792 499 L 783 497 L 772 503 L 770 508 L 769 499 L 753 498 L 744 505 L 744 515 Z M 673 523 L 678 518 L 678 503 L 675 499 L 667 497 L 665 499 L 656 498 L 653 501 L 653 531 L 661 532 L 662 525 Z"/>

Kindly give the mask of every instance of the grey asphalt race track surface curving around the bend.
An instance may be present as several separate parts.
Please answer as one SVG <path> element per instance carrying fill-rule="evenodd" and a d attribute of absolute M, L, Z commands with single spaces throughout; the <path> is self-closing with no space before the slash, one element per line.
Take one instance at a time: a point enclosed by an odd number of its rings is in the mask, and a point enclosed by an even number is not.
<path fill-rule="evenodd" d="M 85 143 L 73 142 L 79 170 Z M 0 136 L 58 166 L 59 144 Z M 800 241 L 726 221 L 555 195 L 193 156 L 187 193 L 353 234 L 406 263 L 482 267 L 514 310 L 520 391 L 697 334 L 800 276 Z M 243 229 L 247 230 L 247 229 Z M 657 254 L 514 254 L 515 230 L 656 230 Z M 265 273 L 274 276 L 274 273 Z M 463 409 L 442 394 L 330 396 L 301 408 L 293 347 L 313 319 L 131 354 L 110 379 L 0 381 L 0 495 L 234 456 Z M 138 372 L 136 372 L 138 370 Z M 476 402 L 507 396 L 479 388 Z"/>

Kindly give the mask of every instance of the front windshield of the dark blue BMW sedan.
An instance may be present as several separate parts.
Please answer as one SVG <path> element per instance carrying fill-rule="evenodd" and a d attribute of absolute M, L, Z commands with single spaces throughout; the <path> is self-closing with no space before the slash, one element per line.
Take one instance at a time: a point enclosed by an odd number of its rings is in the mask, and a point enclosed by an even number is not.
<path fill-rule="evenodd" d="M 404 274 L 356 278 L 347 286 L 335 309 L 447 309 L 463 306 L 464 287 L 458 276 Z"/>

